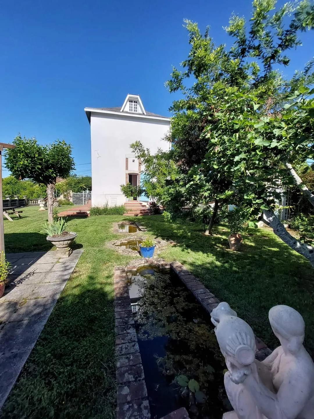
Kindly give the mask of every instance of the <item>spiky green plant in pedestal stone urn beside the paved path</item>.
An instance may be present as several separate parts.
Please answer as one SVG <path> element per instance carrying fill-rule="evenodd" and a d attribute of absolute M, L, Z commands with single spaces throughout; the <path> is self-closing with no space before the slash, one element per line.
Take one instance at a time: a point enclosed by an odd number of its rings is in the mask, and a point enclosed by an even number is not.
<path fill-rule="evenodd" d="M 45 222 L 45 231 L 47 233 L 46 240 L 50 241 L 57 248 L 56 256 L 59 258 L 67 258 L 72 253 L 69 245 L 77 236 L 73 231 L 66 231 L 67 222 L 62 217 L 53 222 Z"/>

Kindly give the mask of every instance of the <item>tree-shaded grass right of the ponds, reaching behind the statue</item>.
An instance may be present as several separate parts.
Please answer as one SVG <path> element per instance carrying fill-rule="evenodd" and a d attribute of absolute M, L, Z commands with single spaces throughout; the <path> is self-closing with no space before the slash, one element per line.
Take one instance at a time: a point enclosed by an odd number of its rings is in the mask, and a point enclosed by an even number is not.
<path fill-rule="evenodd" d="M 205 236 L 201 225 L 192 222 L 165 223 L 158 216 L 142 217 L 141 222 L 148 233 L 176 242 L 161 256 L 185 264 L 270 347 L 278 341 L 269 326 L 268 310 L 277 304 L 298 310 L 306 323 L 306 348 L 314 355 L 314 270 L 269 229 L 250 230 L 240 251 L 234 252 L 224 226 L 215 226 L 214 235 Z"/>

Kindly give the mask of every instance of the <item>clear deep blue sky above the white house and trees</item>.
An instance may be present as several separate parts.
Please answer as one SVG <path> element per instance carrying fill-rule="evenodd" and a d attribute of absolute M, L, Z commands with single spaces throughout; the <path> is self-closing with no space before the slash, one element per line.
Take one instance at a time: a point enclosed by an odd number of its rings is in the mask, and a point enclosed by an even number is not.
<path fill-rule="evenodd" d="M 134 93 L 146 110 L 169 115 L 173 97 L 164 82 L 189 51 L 183 19 L 202 31 L 210 25 L 220 44 L 230 42 L 222 26 L 232 12 L 250 17 L 250 11 L 250 0 L 2 2 L 1 141 L 18 132 L 44 144 L 64 139 L 73 146 L 76 173 L 90 174 L 84 107 L 120 106 Z M 283 69 L 287 76 L 313 55 L 314 32 L 301 39 Z"/>

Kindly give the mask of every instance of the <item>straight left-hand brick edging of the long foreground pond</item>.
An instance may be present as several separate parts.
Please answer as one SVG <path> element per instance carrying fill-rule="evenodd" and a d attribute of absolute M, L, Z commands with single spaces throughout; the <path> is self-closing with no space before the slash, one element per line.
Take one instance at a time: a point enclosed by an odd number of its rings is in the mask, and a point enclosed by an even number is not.
<path fill-rule="evenodd" d="M 116 331 L 117 419 L 150 419 L 142 358 L 139 353 L 126 269 L 115 266 L 114 312 Z"/>

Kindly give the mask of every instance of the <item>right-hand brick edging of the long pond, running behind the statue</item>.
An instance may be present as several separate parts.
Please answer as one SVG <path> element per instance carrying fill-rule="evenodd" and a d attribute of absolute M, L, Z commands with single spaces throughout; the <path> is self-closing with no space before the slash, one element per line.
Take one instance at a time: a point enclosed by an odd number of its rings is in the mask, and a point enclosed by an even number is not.
<path fill-rule="evenodd" d="M 170 263 L 172 271 L 174 271 L 185 286 L 193 293 L 196 300 L 198 300 L 205 310 L 210 314 L 211 311 L 217 307 L 220 303 L 220 300 L 215 297 L 215 295 L 210 292 L 205 286 L 196 278 L 188 269 L 185 268 L 180 262 Z M 267 345 L 261 341 L 257 336 L 255 336 L 256 344 L 256 353 L 255 357 L 257 360 L 264 360 L 270 353 L 271 350 Z"/>

